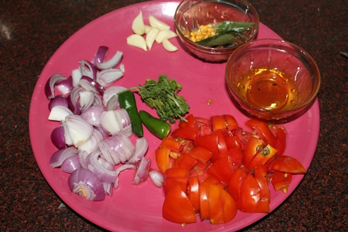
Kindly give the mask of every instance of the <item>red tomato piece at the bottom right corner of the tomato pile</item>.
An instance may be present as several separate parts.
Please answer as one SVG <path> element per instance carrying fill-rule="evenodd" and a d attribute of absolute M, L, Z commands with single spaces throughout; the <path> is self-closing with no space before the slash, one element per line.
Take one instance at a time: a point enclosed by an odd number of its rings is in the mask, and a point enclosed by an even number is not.
<path fill-rule="evenodd" d="M 261 189 L 258 181 L 251 174 L 244 178 L 239 199 L 239 210 L 243 212 L 269 212 L 267 199 L 261 198 Z"/>

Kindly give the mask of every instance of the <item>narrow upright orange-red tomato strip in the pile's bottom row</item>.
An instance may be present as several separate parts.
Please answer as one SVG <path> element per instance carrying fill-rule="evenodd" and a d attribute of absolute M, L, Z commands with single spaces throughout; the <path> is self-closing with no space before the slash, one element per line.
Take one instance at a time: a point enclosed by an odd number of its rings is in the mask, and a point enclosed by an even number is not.
<path fill-rule="evenodd" d="M 223 224 L 223 199 L 222 190 L 217 185 L 208 185 L 209 195 L 209 218 L 211 224 Z"/>

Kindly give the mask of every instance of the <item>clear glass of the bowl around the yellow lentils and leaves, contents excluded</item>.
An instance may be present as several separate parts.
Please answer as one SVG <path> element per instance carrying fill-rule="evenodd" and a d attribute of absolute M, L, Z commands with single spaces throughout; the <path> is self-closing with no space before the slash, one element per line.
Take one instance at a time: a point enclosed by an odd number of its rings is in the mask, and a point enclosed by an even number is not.
<path fill-rule="evenodd" d="M 205 47 L 189 39 L 191 31 L 198 29 L 200 25 L 226 20 L 254 22 L 254 25 L 243 32 L 245 38 L 231 47 Z M 175 10 L 174 24 L 177 35 L 189 52 L 205 61 L 219 62 L 227 61 L 237 47 L 256 36 L 259 29 L 259 17 L 255 8 L 246 0 L 184 0 Z"/>

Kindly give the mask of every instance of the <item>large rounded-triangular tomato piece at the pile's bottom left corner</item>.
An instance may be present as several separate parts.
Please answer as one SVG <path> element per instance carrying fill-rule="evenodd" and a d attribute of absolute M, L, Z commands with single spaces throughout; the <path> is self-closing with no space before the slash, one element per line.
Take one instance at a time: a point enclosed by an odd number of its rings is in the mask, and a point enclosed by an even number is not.
<path fill-rule="evenodd" d="M 196 211 L 187 194 L 179 185 L 175 185 L 166 194 L 162 207 L 162 216 L 169 222 L 189 224 L 196 222 Z"/>

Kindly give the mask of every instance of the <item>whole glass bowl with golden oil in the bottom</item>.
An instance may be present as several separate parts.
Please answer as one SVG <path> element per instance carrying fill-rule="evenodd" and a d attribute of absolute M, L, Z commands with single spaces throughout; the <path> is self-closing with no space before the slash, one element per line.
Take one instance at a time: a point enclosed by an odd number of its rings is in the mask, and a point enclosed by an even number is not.
<path fill-rule="evenodd" d="M 261 39 L 235 49 L 226 63 L 226 81 L 249 114 L 278 120 L 315 100 L 320 73 L 301 47 L 285 40 Z"/>

